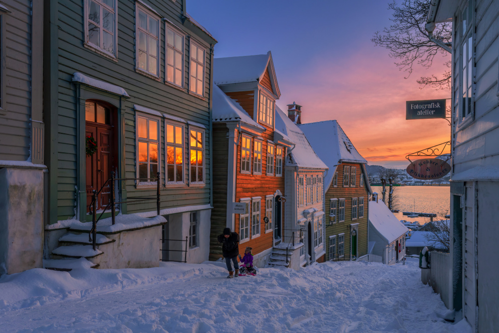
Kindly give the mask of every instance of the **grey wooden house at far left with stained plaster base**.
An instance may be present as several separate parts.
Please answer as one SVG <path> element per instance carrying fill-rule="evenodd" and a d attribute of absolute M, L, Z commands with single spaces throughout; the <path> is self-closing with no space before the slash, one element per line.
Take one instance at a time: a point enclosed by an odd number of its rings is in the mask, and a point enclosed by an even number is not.
<path fill-rule="evenodd" d="M 43 2 L 0 4 L 0 275 L 42 267 Z"/>

